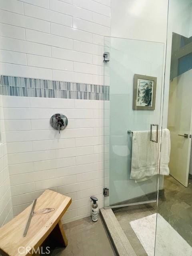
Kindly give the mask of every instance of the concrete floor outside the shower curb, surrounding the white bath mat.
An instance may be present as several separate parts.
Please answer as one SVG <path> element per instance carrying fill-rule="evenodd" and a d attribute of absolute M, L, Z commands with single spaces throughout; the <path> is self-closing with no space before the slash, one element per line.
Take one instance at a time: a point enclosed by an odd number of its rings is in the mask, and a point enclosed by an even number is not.
<path fill-rule="evenodd" d="M 165 176 L 164 190 L 164 196 L 159 199 L 158 213 L 192 246 L 192 180 L 189 180 L 188 188 L 185 188 L 172 176 Z M 136 255 L 147 256 L 129 223 L 156 213 L 156 203 L 128 206 L 113 211 Z"/>

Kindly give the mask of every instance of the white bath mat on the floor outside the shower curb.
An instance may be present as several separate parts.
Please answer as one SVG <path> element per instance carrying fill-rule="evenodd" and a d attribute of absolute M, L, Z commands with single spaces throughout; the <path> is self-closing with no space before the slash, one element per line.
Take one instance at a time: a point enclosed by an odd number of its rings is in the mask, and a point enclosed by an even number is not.
<path fill-rule="evenodd" d="M 154 256 L 157 214 L 130 222 L 148 256 Z M 156 256 L 192 256 L 192 247 L 160 215 L 157 217 Z"/>

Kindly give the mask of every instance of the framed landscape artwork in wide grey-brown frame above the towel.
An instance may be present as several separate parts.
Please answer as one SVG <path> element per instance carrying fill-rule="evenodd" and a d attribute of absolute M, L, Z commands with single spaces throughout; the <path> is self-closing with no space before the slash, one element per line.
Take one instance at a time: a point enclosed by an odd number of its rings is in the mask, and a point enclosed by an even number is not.
<path fill-rule="evenodd" d="M 156 77 L 139 74 L 134 75 L 133 109 L 155 109 L 156 85 Z"/>

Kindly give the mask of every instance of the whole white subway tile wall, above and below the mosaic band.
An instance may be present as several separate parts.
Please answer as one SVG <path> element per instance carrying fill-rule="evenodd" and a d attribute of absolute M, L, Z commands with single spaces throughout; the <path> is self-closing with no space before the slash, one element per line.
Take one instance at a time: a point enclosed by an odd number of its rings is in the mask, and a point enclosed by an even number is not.
<path fill-rule="evenodd" d="M 102 54 L 104 36 L 110 36 L 110 0 L 8 2 L 0 0 L 1 75 L 104 85 Z M 105 77 L 105 85 L 109 83 Z M 0 161 L 5 162 L 0 174 L 8 177 L 9 162 L 13 214 L 19 214 L 46 188 L 72 197 L 63 222 L 89 216 L 91 195 L 102 206 L 104 144 L 108 148 L 104 102 L 2 99 L 8 157 L 3 153 L 6 146 L 0 146 Z M 49 124 L 56 112 L 68 118 L 60 134 Z M 0 204 L 7 204 L 6 216 L 12 209 L 9 196 L 7 189 L 4 199 L 0 198 Z"/>

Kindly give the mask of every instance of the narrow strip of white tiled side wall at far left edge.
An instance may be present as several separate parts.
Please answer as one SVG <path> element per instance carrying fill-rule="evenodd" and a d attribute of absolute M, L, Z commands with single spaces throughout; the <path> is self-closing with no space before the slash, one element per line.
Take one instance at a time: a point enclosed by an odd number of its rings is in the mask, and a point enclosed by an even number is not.
<path fill-rule="evenodd" d="M 13 217 L 5 126 L 0 95 L 0 227 Z"/>

